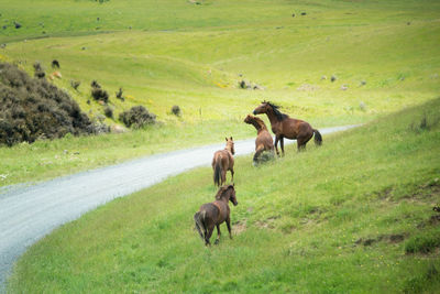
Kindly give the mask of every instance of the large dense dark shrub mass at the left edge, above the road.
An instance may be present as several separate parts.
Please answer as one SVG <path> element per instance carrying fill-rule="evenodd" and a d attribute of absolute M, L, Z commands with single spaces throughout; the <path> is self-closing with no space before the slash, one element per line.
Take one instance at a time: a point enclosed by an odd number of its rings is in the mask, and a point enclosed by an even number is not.
<path fill-rule="evenodd" d="M 86 113 L 65 91 L 0 63 L 0 144 L 94 133 Z"/>

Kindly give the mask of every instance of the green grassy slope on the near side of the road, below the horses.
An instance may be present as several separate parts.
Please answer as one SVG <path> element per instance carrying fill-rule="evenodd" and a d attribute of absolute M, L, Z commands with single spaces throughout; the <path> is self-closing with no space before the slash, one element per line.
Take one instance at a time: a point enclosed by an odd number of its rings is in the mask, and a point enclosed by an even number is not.
<path fill-rule="evenodd" d="M 435 293 L 439 110 L 436 99 L 260 167 L 239 157 L 234 239 L 211 248 L 193 229 L 216 193 L 210 168 L 117 199 L 33 246 L 9 291 Z"/>

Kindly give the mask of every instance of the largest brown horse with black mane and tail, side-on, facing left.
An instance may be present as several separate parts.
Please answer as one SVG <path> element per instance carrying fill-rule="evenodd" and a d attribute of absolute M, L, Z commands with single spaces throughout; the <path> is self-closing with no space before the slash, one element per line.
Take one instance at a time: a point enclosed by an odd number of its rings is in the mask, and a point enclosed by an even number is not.
<path fill-rule="evenodd" d="M 322 144 L 322 137 L 320 132 L 304 120 L 293 119 L 278 110 L 278 106 L 268 101 L 263 101 L 257 108 L 254 109 L 254 115 L 266 113 L 271 121 L 272 131 L 275 133 L 275 150 L 278 152 L 278 141 L 282 146 L 284 155 L 284 138 L 296 139 L 298 151 L 306 149 L 307 142 L 314 137 L 315 144 Z"/>

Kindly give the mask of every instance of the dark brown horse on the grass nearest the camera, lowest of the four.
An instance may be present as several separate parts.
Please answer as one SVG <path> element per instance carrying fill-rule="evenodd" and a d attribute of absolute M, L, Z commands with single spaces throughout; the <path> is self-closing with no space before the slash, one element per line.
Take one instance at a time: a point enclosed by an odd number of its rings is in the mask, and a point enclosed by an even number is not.
<path fill-rule="evenodd" d="M 204 204 L 199 211 L 194 215 L 194 221 L 196 222 L 196 228 L 205 240 L 206 246 L 210 246 L 209 239 L 212 236 L 213 227 L 217 227 L 217 239 L 216 244 L 220 241 L 220 225 L 226 221 L 229 231 L 229 238 L 232 239 L 231 235 L 231 218 L 229 208 L 229 202 L 237 206 L 239 203 L 235 197 L 234 185 L 224 185 L 219 188 L 216 195 L 216 200 L 213 203 Z"/>

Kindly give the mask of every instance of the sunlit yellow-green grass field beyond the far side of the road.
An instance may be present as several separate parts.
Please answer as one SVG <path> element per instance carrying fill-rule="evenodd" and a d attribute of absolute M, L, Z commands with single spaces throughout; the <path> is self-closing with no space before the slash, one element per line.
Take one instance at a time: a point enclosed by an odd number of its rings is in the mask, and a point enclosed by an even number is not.
<path fill-rule="evenodd" d="M 242 120 L 263 99 L 319 128 L 366 122 L 438 96 L 438 1 L 200 3 L 0 0 L 0 59 L 31 74 L 35 61 L 51 73 L 58 59 L 63 78 L 54 83 L 91 118 L 103 113 L 87 104 L 97 79 L 116 113 L 107 123 L 139 104 L 161 121 L 122 135 L 2 146 L 0 186 L 249 138 L 254 130 Z M 243 78 L 265 89 L 240 89 Z M 78 91 L 70 79 L 81 83 Z M 124 102 L 114 98 L 119 87 Z M 174 105 L 180 118 L 170 113 Z"/>

